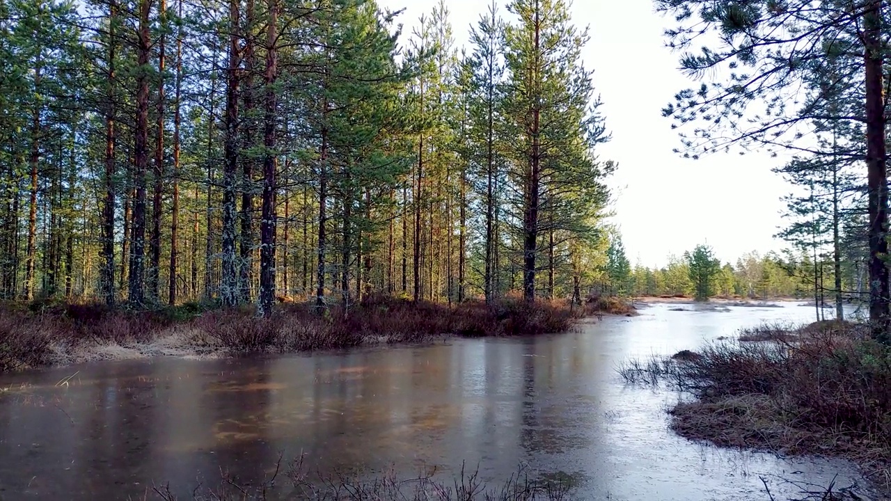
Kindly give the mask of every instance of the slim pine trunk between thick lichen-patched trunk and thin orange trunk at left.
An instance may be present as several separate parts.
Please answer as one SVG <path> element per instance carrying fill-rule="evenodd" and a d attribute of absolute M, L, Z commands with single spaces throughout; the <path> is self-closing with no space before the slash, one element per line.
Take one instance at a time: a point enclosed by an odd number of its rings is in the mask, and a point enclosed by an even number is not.
<path fill-rule="evenodd" d="M 161 36 L 158 40 L 158 102 L 155 111 L 155 163 L 154 181 L 151 199 L 151 239 L 149 242 L 149 273 L 148 289 L 149 297 L 153 301 L 159 299 L 160 267 L 161 267 L 161 215 L 164 201 L 164 64 L 166 59 L 167 36 L 167 4 L 165 0 L 159 0 L 158 13 L 161 19 Z"/>

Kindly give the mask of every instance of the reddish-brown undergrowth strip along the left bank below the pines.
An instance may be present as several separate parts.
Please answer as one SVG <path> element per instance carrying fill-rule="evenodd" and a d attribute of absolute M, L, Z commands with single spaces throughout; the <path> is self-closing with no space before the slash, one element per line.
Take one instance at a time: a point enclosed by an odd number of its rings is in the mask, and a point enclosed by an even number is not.
<path fill-rule="evenodd" d="M 211 356 L 350 348 L 425 341 L 437 336 L 516 336 L 573 328 L 582 308 L 506 299 L 450 308 L 373 297 L 352 308 L 278 305 L 254 308 L 187 304 L 126 311 L 95 304 L 6 303 L 0 306 L 0 372 L 102 358 Z"/>

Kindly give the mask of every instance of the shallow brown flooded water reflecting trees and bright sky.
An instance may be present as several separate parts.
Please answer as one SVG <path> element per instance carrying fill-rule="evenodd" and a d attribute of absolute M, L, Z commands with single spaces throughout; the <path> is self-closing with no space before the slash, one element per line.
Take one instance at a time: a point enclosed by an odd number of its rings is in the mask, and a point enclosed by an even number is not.
<path fill-rule="evenodd" d="M 676 307 L 535 338 L 7 375 L 0 498 L 142 498 L 166 482 L 191 498 L 199 482 L 219 481 L 220 468 L 256 482 L 280 454 L 301 452 L 322 472 L 412 477 L 436 467 L 451 479 L 464 462 L 494 482 L 522 464 L 571 479 L 587 499 L 767 499 L 760 476 L 776 499 L 799 490 L 780 478 L 863 483 L 843 461 L 722 450 L 669 431 L 666 407 L 677 396 L 625 387 L 615 370 L 624 359 L 814 315 L 804 305 Z"/>

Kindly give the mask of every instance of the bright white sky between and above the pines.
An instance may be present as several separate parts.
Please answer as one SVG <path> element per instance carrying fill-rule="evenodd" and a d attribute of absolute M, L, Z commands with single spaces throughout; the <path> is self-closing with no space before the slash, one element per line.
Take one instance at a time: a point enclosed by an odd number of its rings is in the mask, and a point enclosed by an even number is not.
<path fill-rule="evenodd" d="M 408 37 L 437 0 L 378 4 L 405 8 L 398 22 Z M 508 18 L 504 1 L 499 4 Z M 488 0 L 446 0 L 446 5 L 455 41 L 465 45 L 470 24 L 486 12 Z M 673 152 L 680 146 L 678 132 L 661 110 L 695 82 L 679 70 L 679 54 L 665 46 L 663 32 L 672 20 L 655 12 L 651 0 L 576 0 L 571 14 L 576 26 L 590 29 L 584 65 L 594 70 L 593 85 L 612 135 L 598 153 L 618 162 L 609 180 L 616 213 L 610 222 L 620 229 L 632 264 L 661 267 L 669 254 L 699 243 L 734 264 L 750 250 L 764 254 L 785 247 L 772 236 L 782 224 L 781 197 L 790 190 L 771 170 L 782 160 L 759 152 L 690 160 Z"/>

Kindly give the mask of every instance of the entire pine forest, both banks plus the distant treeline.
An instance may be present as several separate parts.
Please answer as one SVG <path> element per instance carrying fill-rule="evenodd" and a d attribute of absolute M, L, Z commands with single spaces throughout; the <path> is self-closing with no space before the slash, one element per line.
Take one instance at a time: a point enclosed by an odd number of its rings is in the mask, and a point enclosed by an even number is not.
<path fill-rule="evenodd" d="M 706 4 L 657 2 L 679 12 L 667 35 L 688 51 L 683 70 L 728 78 L 663 110 L 682 130 L 677 152 L 793 153 L 775 168 L 791 187 L 777 234 L 789 250 L 715 268 L 710 292 L 809 291 L 869 300 L 872 319 L 886 317 L 876 166 L 888 107 L 873 98 L 887 71 L 851 54 L 870 37 L 881 45 L 887 27 L 857 38 L 808 18 L 808 48 L 771 41 L 801 65 L 750 74 L 740 67 L 756 54 L 732 60 L 760 47 L 719 55 L 684 24 Z M 732 37 L 785 26 L 795 10 L 781 2 L 762 19 L 722 5 L 709 15 Z M 566 2 L 493 2 L 466 46 L 445 0 L 406 34 L 402 12 L 365 0 L 4 0 L 0 11 L 7 300 L 268 315 L 292 300 L 693 292 L 687 259 L 631 267 L 607 224 L 617 165 L 598 156 L 609 131 L 581 58 L 588 32 Z"/>

